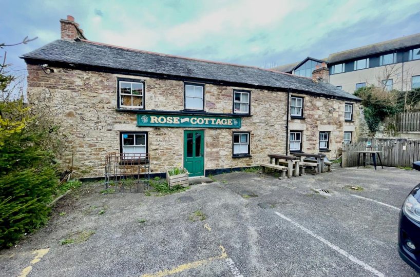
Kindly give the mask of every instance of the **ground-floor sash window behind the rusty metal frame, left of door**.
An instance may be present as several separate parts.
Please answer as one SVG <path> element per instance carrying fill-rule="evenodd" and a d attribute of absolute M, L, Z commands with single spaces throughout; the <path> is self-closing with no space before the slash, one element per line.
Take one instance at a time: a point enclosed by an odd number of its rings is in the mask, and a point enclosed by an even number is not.
<path fill-rule="evenodd" d="M 138 158 L 147 153 L 147 132 L 121 132 L 120 144 L 124 159 Z"/>

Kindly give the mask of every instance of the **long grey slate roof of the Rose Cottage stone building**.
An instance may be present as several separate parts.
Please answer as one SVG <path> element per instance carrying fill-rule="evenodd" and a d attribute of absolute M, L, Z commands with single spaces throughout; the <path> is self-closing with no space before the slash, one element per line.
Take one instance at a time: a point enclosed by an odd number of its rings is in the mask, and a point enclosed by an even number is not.
<path fill-rule="evenodd" d="M 134 49 L 120 48 L 89 41 L 69 42 L 58 39 L 24 54 L 25 60 L 36 59 L 114 70 L 129 70 L 159 75 L 199 78 L 252 86 L 299 90 L 309 94 L 360 101 L 360 98 L 334 85 L 258 67 L 239 66 L 195 60 Z"/>

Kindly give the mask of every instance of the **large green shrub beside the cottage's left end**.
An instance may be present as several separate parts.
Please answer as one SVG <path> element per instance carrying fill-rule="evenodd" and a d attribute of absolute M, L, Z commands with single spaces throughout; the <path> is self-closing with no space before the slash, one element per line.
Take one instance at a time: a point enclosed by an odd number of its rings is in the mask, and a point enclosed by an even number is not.
<path fill-rule="evenodd" d="M 22 100 L 0 103 L 1 248 L 46 222 L 46 205 L 58 185 L 50 148 L 56 128 L 37 122 Z"/>

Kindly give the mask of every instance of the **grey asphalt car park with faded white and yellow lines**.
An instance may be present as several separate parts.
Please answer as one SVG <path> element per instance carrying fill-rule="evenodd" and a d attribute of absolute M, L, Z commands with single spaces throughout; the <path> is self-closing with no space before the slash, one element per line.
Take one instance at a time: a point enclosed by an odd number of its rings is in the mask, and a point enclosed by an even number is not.
<path fill-rule="evenodd" d="M 0 253 L 0 274 L 420 276 L 397 252 L 399 209 L 418 171 L 214 178 L 160 197 L 101 194 L 102 184 L 87 184 L 47 226 Z M 91 231 L 86 240 L 60 244 L 81 231 Z"/>

